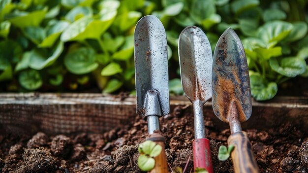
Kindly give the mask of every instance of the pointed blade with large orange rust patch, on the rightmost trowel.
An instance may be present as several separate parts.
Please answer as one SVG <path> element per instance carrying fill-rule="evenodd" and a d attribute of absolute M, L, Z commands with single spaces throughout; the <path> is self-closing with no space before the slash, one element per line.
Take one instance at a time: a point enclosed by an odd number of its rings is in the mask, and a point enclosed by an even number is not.
<path fill-rule="evenodd" d="M 241 122 L 251 115 L 250 82 L 246 55 L 239 36 L 228 28 L 219 38 L 212 71 L 212 101 L 216 116 L 229 121 L 235 104 Z"/>

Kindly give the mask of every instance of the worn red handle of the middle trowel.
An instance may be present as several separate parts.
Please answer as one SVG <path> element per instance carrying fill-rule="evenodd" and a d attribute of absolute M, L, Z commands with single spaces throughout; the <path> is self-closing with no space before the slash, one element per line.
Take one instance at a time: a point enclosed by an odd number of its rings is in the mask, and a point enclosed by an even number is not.
<path fill-rule="evenodd" d="M 195 139 L 192 141 L 193 167 L 204 168 L 213 173 L 210 140 L 207 138 Z"/>

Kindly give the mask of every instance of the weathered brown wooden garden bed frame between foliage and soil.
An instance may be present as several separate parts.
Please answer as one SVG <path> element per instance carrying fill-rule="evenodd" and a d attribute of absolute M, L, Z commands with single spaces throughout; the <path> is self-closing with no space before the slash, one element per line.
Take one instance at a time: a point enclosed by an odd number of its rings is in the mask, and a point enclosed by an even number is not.
<path fill-rule="evenodd" d="M 170 98 L 170 112 L 181 105 L 189 105 L 186 109 L 192 111 L 191 103 L 185 96 Z M 252 106 L 252 115 L 242 124 L 243 129 L 266 129 L 290 122 L 298 129 L 308 130 L 308 97 L 276 97 L 267 102 L 253 101 Z M 135 112 L 136 99 L 133 96 L 0 94 L 0 126 L 30 133 L 100 133 L 129 124 L 134 121 Z M 214 115 L 211 102 L 204 105 L 204 115 L 213 119 L 218 128 L 227 127 Z"/>

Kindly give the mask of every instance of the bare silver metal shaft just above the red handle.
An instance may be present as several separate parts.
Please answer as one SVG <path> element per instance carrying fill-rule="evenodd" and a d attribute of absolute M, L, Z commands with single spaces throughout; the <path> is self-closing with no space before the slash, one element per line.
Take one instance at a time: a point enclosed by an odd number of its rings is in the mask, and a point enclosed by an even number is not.
<path fill-rule="evenodd" d="M 196 100 L 192 103 L 194 115 L 195 139 L 205 138 L 204 119 L 203 119 L 203 103 Z"/>

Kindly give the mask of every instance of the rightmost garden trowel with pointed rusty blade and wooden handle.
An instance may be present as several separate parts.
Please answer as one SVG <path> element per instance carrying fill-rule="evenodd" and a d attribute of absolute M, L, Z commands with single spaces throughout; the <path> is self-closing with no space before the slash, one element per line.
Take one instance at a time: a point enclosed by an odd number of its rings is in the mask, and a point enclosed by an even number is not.
<path fill-rule="evenodd" d="M 219 38 L 213 57 L 212 102 L 216 116 L 229 123 L 228 145 L 235 173 L 259 173 L 251 143 L 241 122 L 251 115 L 250 82 L 244 47 L 238 35 L 228 28 Z"/>

